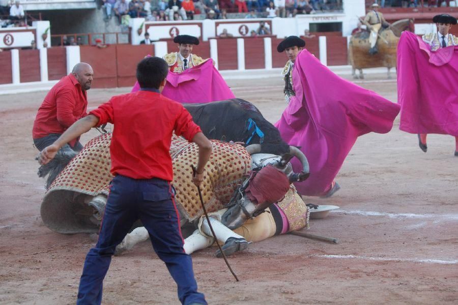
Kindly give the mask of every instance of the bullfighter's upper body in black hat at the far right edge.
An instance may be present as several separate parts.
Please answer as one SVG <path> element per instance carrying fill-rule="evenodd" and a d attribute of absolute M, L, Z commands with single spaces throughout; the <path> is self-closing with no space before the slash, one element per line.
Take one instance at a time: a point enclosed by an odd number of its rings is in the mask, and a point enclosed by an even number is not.
<path fill-rule="evenodd" d="M 449 34 L 450 27 L 456 24 L 456 18 L 448 14 L 436 15 L 433 22 L 437 25 L 437 32 L 423 35 L 423 41 L 431 46 L 432 51 L 440 48 L 458 45 L 458 38 Z"/>

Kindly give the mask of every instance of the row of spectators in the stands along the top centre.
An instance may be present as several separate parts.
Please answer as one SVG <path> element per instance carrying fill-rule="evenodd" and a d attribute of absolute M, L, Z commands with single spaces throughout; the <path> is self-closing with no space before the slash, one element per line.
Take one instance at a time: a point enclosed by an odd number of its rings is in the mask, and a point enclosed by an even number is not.
<path fill-rule="evenodd" d="M 106 20 L 116 16 L 128 25 L 130 18 L 148 21 L 227 19 L 227 13 L 245 13 L 246 18 L 294 17 L 296 14 L 341 9 L 341 0 L 102 0 Z M 249 13 L 248 13 L 249 12 Z"/>

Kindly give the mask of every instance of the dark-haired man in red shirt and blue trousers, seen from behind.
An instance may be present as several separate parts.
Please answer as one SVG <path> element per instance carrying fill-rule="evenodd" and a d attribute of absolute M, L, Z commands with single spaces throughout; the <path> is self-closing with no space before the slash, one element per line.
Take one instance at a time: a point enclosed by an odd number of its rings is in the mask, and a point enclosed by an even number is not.
<path fill-rule="evenodd" d="M 207 304 L 204 295 L 197 292 L 191 257 L 183 250 L 170 185 L 173 168 L 169 149 L 173 132 L 199 146 L 193 177 L 194 184 L 199 185 L 212 145 L 183 105 L 160 94 L 167 73 L 168 66 L 162 58 L 144 58 L 137 66 L 138 92 L 112 97 L 39 154 L 40 163 L 46 164 L 65 143 L 92 127 L 114 125 L 110 157 L 111 173 L 115 177 L 110 184 L 99 240 L 84 262 L 77 304 L 101 303 L 102 283 L 111 256 L 138 219 L 147 228 L 155 252 L 177 283 L 180 301 Z"/>

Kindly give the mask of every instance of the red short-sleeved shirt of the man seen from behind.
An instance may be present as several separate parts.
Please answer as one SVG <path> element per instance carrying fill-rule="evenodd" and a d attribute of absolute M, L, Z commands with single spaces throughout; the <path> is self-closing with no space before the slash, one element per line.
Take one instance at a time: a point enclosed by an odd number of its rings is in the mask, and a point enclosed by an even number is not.
<path fill-rule="evenodd" d="M 114 124 L 111 173 L 134 179 L 173 180 L 172 133 L 191 141 L 202 131 L 183 105 L 150 91 L 112 97 L 89 114 L 99 118 L 99 125 Z"/>

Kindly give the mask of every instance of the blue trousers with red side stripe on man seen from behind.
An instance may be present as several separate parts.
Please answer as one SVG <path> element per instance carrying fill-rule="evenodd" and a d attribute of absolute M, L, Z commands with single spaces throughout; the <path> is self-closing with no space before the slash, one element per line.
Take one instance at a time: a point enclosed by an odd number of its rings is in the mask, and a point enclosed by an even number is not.
<path fill-rule="evenodd" d="M 183 250 L 170 183 L 157 178 L 132 179 L 122 175 L 111 181 L 99 240 L 84 261 L 76 303 L 101 303 L 102 283 L 111 256 L 138 219 L 148 230 L 154 251 L 177 283 L 180 301 L 207 304 L 204 295 L 197 292 L 191 257 Z"/>

